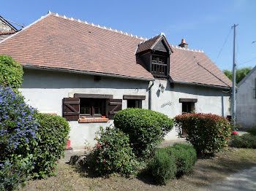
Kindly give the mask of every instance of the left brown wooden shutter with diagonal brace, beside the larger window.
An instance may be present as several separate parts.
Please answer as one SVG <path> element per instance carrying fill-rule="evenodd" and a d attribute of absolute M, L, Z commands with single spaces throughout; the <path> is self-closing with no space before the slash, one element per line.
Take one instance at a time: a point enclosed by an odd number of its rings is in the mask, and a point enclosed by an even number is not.
<path fill-rule="evenodd" d="M 80 99 L 79 98 L 63 98 L 63 117 L 69 121 L 76 121 L 80 114 Z"/>

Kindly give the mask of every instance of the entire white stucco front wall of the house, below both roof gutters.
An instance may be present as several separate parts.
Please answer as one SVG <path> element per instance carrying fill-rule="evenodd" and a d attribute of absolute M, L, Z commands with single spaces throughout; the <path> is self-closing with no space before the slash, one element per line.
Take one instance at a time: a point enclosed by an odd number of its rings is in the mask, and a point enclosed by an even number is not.
<path fill-rule="evenodd" d="M 69 97 L 69 93 L 110 94 L 114 99 L 122 99 L 123 95 L 146 95 L 142 107 L 148 109 L 146 81 L 102 77 L 99 82 L 95 82 L 94 76 L 31 69 L 25 69 L 23 78 L 20 91 L 28 104 L 36 107 L 39 112 L 56 113 L 61 116 L 62 99 Z M 164 93 L 160 92 L 159 83 L 165 86 Z M 151 95 L 151 109 L 167 114 L 170 118 L 181 114 L 182 104 L 179 103 L 179 98 L 197 98 L 195 112 L 211 112 L 224 116 L 230 114 L 229 93 L 224 93 L 222 89 L 177 84 L 170 87 L 170 82 L 167 80 L 156 79 L 151 88 Z M 127 100 L 123 100 L 122 108 L 127 108 Z M 91 123 L 69 122 L 71 147 L 83 149 L 86 140 L 93 145 L 99 126 L 107 127 L 111 124 L 113 120 Z M 175 128 L 165 139 L 177 139 Z"/>

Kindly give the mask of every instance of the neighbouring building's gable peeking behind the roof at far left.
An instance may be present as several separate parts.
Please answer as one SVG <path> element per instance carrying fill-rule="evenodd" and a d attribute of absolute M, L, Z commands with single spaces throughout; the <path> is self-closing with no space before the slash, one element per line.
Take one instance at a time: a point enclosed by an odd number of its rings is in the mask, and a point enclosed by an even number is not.
<path fill-rule="evenodd" d="M 17 28 L 0 16 L 0 42 L 8 36 L 15 34 L 17 31 Z"/>

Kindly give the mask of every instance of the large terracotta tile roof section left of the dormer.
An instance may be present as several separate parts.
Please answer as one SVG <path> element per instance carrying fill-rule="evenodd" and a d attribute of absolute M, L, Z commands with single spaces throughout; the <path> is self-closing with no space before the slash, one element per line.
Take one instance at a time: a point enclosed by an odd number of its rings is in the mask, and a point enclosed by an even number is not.
<path fill-rule="evenodd" d="M 136 63 L 140 42 L 135 36 L 50 14 L 1 42 L 0 54 L 23 66 L 73 69 L 154 79 Z"/>

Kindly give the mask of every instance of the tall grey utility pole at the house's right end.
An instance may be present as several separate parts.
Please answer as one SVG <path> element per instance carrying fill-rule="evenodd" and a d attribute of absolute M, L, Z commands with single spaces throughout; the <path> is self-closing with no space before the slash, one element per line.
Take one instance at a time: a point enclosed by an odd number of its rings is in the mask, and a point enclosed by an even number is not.
<path fill-rule="evenodd" d="M 234 24 L 234 45 L 233 45 L 233 85 L 232 85 L 232 119 L 233 127 L 236 127 L 236 26 Z"/>

